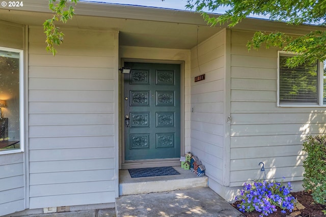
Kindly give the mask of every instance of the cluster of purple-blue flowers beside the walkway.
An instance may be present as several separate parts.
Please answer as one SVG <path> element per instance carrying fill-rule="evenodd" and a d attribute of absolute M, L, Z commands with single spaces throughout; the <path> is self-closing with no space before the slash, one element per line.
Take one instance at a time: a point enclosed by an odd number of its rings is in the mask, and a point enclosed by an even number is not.
<path fill-rule="evenodd" d="M 290 195 L 291 183 L 288 182 L 287 187 L 275 180 L 258 180 L 253 184 L 244 183 L 240 196 L 236 200 L 240 200 L 238 208 L 242 212 L 258 211 L 261 212 L 260 217 L 277 211 L 277 207 L 285 213 L 286 209 L 292 212 L 294 208 L 295 198 Z"/>

